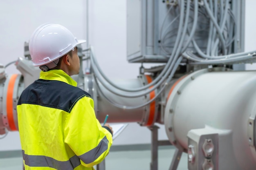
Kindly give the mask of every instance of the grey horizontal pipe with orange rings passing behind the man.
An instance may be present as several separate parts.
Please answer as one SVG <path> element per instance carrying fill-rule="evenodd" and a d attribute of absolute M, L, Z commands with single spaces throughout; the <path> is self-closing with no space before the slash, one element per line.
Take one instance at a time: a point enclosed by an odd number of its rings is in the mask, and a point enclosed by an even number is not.
<path fill-rule="evenodd" d="M 5 134 L 6 129 L 10 131 L 18 130 L 16 106 L 20 94 L 29 84 L 39 78 L 40 70 L 32 66 L 31 60 L 19 58 L 16 66 L 22 73 L 21 75 L 8 76 L 4 72 L 4 67 L 0 67 L 0 135 Z M 80 88 L 92 95 L 95 113 L 100 122 L 103 122 L 108 114 L 109 123 L 138 122 L 141 126 L 152 126 L 159 117 L 158 104 L 155 101 L 137 109 L 121 109 L 108 102 L 110 100 L 124 106 L 138 106 L 154 98 L 157 89 L 142 97 L 125 98 L 112 94 L 101 84 L 97 89 L 96 81 L 91 74 L 74 75 L 72 78 L 78 82 Z M 153 78 L 150 75 L 140 75 L 137 79 L 115 80 L 114 83 L 124 88 L 140 88 L 149 84 L 152 80 Z"/>

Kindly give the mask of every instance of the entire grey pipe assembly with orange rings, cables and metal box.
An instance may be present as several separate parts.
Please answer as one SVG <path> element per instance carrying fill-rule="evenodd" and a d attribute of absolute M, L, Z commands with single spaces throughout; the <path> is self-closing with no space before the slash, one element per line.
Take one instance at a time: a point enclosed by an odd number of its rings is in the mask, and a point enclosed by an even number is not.
<path fill-rule="evenodd" d="M 189 170 L 254 170 L 256 72 L 234 69 L 256 62 L 256 51 L 243 52 L 244 7 L 240 0 L 128 0 L 128 61 L 164 65 L 111 81 L 93 48 L 78 47 L 81 69 L 72 78 L 92 95 L 99 121 L 109 114 L 110 123 L 164 124 L 177 148 L 170 170 L 182 152 Z M 0 66 L 1 135 L 18 130 L 18 99 L 39 77 L 27 46 L 16 61 L 21 74 Z M 86 74 L 84 60 L 91 63 Z"/>

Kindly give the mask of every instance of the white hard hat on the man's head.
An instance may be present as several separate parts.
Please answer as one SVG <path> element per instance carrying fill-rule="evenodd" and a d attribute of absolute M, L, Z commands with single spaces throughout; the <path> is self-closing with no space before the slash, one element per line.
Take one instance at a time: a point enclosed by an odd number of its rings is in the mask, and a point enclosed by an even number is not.
<path fill-rule="evenodd" d="M 67 28 L 60 24 L 43 24 L 31 35 L 29 53 L 33 65 L 42 66 L 62 57 L 84 42 L 86 41 L 77 40 Z"/>

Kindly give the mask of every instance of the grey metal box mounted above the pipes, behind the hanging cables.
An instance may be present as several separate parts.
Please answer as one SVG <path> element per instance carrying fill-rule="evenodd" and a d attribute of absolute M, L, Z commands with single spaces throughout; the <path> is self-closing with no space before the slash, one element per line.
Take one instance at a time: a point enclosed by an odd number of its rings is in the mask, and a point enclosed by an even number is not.
<path fill-rule="evenodd" d="M 179 18 L 177 18 L 178 6 L 173 7 L 166 15 L 170 7 L 167 4 L 169 2 L 171 1 L 127 0 L 127 60 L 129 62 L 168 61 L 168 56 L 170 56 L 174 47 L 175 33 L 177 33 L 179 23 Z M 238 53 L 244 50 L 245 2 L 243 0 L 232 0 L 229 5 L 236 18 L 237 32 L 231 53 Z M 193 17 L 193 11 L 191 16 Z M 204 52 L 208 41 L 209 20 L 206 20 L 202 14 L 198 17 L 197 32 L 194 38 Z M 175 21 L 173 22 L 173 20 Z M 171 22 L 172 24 L 169 25 Z M 164 31 L 166 37 L 163 37 Z M 185 40 L 187 38 L 188 35 L 186 35 Z M 163 40 L 164 48 L 161 46 Z M 186 50 L 195 51 L 192 44 L 189 44 Z"/>

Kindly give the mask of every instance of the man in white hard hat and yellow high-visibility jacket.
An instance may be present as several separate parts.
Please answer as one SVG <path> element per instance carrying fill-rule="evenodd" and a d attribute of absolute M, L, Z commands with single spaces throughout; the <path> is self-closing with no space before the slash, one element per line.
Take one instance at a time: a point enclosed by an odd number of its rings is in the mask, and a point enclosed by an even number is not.
<path fill-rule="evenodd" d="M 44 24 L 29 40 L 40 78 L 21 94 L 18 125 L 26 170 L 93 170 L 112 145 L 112 128 L 95 117 L 90 94 L 70 77 L 79 73 L 77 45 L 59 24 Z"/>

